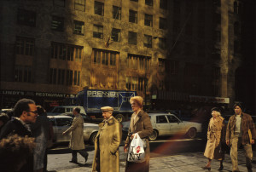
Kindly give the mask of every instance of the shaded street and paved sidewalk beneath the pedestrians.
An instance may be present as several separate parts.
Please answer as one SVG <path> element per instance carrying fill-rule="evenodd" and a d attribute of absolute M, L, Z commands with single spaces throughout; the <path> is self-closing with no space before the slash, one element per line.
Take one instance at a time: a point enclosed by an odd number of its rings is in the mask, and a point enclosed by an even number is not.
<path fill-rule="evenodd" d="M 49 171 L 90 171 L 94 157 L 94 146 L 86 145 L 86 151 L 89 152 L 87 163 L 84 158 L 78 156 L 78 164 L 69 163 L 71 160 L 71 151 L 66 144 L 61 144 L 54 149 L 49 150 L 48 170 Z M 204 171 L 201 169 L 206 163 L 207 158 L 203 156 L 205 142 L 201 139 L 184 138 L 160 138 L 150 142 L 151 158 L 150 171 Z M 123 146 L 119 147 L 120 152 L 120 171 L 125 170 L 125 152 Z M 253 152 L 254 154 L 256 152 Z M 253 169 L 256 170 L 256 158 L 253 158 Z M 243 151 L 239 152 L 239 168 L 241 171 L 247 171 Z M 218 171 L 218 161 L 212 161 L 212 171 Z M 230 171 L 230 155 L 225 154 L 224 170 Z"/>

